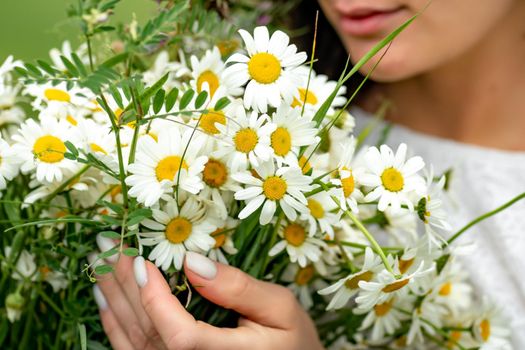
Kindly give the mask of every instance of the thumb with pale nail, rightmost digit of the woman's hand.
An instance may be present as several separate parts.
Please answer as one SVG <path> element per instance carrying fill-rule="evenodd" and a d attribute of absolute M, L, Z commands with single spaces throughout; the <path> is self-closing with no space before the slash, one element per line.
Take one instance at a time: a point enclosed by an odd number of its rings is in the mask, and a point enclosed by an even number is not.
<path fill-rule="evenodd" d="M 287 288 L 259 281 L 194 252 L 186 253 L 184 271 L 193 287 L 209 301 L 268 327 L 293 326 L 299 306 Z"/>

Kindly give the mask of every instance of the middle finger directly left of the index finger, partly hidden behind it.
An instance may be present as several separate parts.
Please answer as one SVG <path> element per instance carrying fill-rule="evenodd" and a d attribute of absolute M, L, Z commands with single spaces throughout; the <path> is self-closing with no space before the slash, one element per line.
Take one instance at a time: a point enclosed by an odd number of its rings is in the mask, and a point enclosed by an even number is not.
<path fill-rule="evenodd" d="M 115 265 L 115 277 L 120 285 L 120 289 L 130 303 L 148 342 L 159 349 L 164 348 L 164 343 L 159 333 L 142 306 L 139 287 L 133 275 L 133 258 L 125 255 L 120 256 Z"/>

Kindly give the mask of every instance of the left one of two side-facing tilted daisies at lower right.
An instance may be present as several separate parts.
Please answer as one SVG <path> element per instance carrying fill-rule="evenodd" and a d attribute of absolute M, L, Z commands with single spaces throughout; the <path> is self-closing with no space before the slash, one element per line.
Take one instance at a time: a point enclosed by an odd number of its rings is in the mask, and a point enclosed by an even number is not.
<path fill-rule="evenodd" d="M 382 262 L 379 256 L 372 252 L 370 247 L 365 249 L 365 260 L 361 271 L 350 274 L 340 279 L 335 284 L 321 289 L 321 295 L 334 294 L 332 300 L 326 307 L 327 310 L 337 310 L 344 307 L 350 298 L 359 293 L 359 282 L 370 281 L 382 270 Z"/>

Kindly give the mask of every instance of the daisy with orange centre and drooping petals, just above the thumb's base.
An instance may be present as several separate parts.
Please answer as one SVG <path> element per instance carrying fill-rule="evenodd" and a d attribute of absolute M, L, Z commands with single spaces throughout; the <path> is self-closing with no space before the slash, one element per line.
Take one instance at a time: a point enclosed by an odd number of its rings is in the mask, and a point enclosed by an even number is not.
<path fill-rule="evenodd" d="M 290 261 L 297 262 L 299 266 L 305 267 L 309 262 L 317 262 L 321 257 L 321 248 L 325 243 L 306 233 L 306 226 L 300 222 L 288 222 L 278 228 L 278 233 L 283 240 L 277 242 L 268 252 L 275 256 L 286 249 Z"/>

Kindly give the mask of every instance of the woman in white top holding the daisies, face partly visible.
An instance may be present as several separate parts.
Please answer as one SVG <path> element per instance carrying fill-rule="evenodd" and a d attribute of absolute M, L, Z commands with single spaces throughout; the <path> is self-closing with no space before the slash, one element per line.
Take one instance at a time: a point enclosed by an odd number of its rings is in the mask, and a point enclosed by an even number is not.
<path fill-rule="evenodd" d="M 461 226 L 525 191 L 525 1 L 320 5 L 354 60 L 424 9 L 388 49 L 355 113 L 358 124 L 366 122 L 367 111 L 386 98 L 392 105 L 387 119 L 399 125 L 389 142 L 407 142 L 438 170 L 457 169 L 453 222 Z M 525 348 L 524 212 L 518 204 L 471 232 L 476 246 L 466 260 L 480 291 L 510 315 L 517 349 Z M 95 289 L 115 349 L 322 348 L 312 321 L 285 288 L 195 253 L 188 253 L 185 272 L 205 298 L 243 316 L 239 327 L 196 322 L 153 264 L 122 257 L 117 278 Z"/>

